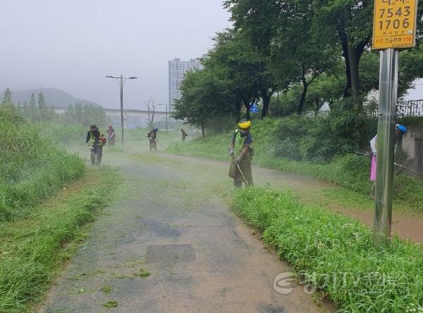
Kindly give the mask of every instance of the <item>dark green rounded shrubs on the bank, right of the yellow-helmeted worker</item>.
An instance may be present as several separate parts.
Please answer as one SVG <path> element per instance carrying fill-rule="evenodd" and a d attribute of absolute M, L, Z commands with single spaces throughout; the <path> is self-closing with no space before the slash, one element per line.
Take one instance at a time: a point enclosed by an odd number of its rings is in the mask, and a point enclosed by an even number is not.
<path fill-rule="evenodd" d="M 274 155 L 292 160 L 329 161 L 336 155 L 368 148 L 374 120 L 333 108 L 327 115 L 283 117 L 274 127 Z M 364 134 L 364 137 L 363 137 Z"/>

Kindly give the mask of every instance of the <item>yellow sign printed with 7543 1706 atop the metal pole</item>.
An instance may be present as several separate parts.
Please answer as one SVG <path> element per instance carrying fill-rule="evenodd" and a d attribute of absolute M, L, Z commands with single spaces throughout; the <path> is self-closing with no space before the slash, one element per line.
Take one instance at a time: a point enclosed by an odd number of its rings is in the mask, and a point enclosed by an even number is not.
<path fill-rule="evenodd" d="M 415 46 L 417 0 L 374 0 L 373 49 Z"/>

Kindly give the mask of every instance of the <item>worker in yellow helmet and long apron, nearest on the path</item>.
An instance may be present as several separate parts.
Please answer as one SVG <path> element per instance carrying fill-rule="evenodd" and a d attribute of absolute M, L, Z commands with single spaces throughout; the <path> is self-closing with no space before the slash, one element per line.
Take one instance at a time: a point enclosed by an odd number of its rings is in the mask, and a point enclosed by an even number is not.
<path fill-rule="evenodd" d="M 246 186 L 252 186 L 251 158 L 254 154 L 252 145 L 252 135 L 250 133 L 251 121 L 241 120 L 238 123 L 238 129 L 232 136 L 229 154 L 232 157 L 231 167 L 229 168 L 229 177 L 233 178 L 235 187 L 242 187 L 243 182 Z M 235 155 L 238 151 L 238 156 Z"/>

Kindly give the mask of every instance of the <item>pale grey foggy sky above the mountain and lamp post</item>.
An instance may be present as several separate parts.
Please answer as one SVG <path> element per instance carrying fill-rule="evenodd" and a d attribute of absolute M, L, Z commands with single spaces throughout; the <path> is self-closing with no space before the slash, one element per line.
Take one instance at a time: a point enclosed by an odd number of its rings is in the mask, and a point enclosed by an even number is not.
<path fill-rule="evenodd" d="M 125 108 L 166 103 L 167 61 L 202 56 L 231 26 L 221 0 L 4 0 L 1 11 L 1 91 L 40 85 L 105 108 L 119 106 L 105 75 L 138 77 Z"/>

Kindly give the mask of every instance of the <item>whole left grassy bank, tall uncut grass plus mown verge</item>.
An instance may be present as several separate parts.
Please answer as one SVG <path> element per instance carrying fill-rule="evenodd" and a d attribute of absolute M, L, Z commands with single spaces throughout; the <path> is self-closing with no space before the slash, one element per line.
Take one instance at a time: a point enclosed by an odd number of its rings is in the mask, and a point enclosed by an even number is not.
<path fill-rule="evenodd" d="M 42 138 L 10 108 L 0 107 L 0 132 L 0 312 L 27 312 L 70 256 L 66 243 L 105 203 L 98 190 L 112 181 L 111 171 L 82 178 L 77 155 Z"/>

